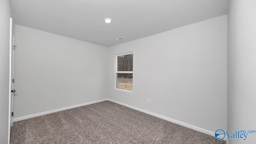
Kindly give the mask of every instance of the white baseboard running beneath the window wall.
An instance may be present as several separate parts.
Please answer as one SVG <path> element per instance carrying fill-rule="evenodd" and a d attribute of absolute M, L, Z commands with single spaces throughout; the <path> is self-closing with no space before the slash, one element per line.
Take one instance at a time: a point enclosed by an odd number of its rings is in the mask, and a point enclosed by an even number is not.
<path fill-rule="evenodd" d="M 185 123 L 185 122 L 180 122 L 180 121 L 178 121 L 178 120 L 174 120 L 174 119 L 172 119 L 172 118 L 168 118 L 168 117 L 166 117 L 166 116 L 162 116 L 162 115 L 156 114 L 156 113 L 154 113 L 154 112 L 149 112 L 149 111 L 147 111 L 147 110 L 143 110 L 143 109 L 137 108 L 137 107 L 135 107 L 135 106 L 130 106 L 130 105 L 128 105 L 128 104 L 124 104 L 124 103 L 118 102 L 118 101 L 116 101 L 116 100 L 111 100 L 111 99 L 109 99 L 109 98 L 107 98 L 107 99 L 108 99 L 109 101 L 111 101 L 111 102 L 114 102 L 114 103 L 117 103 L 117 104 L 121 104 L 121 105 L 126 106 L 126 107 L 128 107 L 128 108 L 132 108 L 132 109 L 134 109 L 134 110 L 138 110 L 138 111 L 140 111 L 140 112 L 144 112 L 144 113 L 146 113 L 146 114 L 150 114 L 150 115 L 156 116 L 156 117 L 158 117 L 158 118 L 162 118 L 162 119 L 164 119 L 164 120 L 173 122 L 173 123 L 175 123 L 175 124 L 179 124 L 179 125 L 181 125 L 181 126 L 185 126 L 185 127 L 187 127 L 187 128 L 191 128 L 191 129 L 196 130 L 196 131 L 198 131 L 198 132 L 202 132 L 202 133 L 205 133 L 205 134 L 210 134 L 211 136 L 214 136 L 214 134 L 215 134 L 215 132 L 212 132 L 212 131 L 210 131 L 210 130 L 206 130 L 206 129 L 203 129 L 203 128 L 199 128 L 199 127 L 197 127 L 197 126 L 193 126 L 193 125 L 187 124 L 187 123 Z"/>

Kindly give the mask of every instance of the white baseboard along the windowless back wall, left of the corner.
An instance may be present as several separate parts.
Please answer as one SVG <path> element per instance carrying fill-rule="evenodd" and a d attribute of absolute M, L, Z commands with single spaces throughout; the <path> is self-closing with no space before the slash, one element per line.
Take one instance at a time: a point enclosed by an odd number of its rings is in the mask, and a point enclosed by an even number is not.
<path fill-rule="evenodd" d="M 80 107 L 80 106 L 86 106 L 88 104 L 94 104 L 94 103 L 97 103 L 97 102 L 103 102 L 105 100 L 108 100 L 108 99 L 106 98 L 106 99 L 102 99 L 102 100 L 96 100 L 96 101 L 93 101 L 93 102 L 86 102 L 86 103 L 83 103 L 83 104 L 78 104 L 78 105 L 74 105 L 74 106 L 68 106 L 68 107 L 65 107 L 65 108 L 58 108 L 56 110 L 49 110 L 47 112 L 40 112 L 40 113 L 37 113 L 37 114 L 31 114 L 31 115 L 28 115 L 28 116 L 22 116 L 22 117 L 19 117 L 19 118 L 14 118 L 13 122 L 17 122 L 17 121 L 20 121 L 20 120 L 26 120 L 28 118 L 34 118 L 34 117 L 42 116 L 42 115 L 45 115 L 45 114 L 51 114 L 51 113 L 59 112 L 59 111 L 62 111 L 62 110 L 68 110 L 68 109 L 71 109 L 71 108 L 77 108 L 77 107 Z"/>

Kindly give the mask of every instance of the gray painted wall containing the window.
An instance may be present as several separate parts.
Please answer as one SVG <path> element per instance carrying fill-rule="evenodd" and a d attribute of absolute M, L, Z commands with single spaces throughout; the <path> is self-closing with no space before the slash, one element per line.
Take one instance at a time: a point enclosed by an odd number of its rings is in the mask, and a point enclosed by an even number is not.
<path fill-rule="evenodd" d="M 126 52 L 134 52 L 132 93 L 114 89 L 115 54 Z M 226 130 L 227 15 L 110 47 L 109 56 L 112 100 Z"/>

